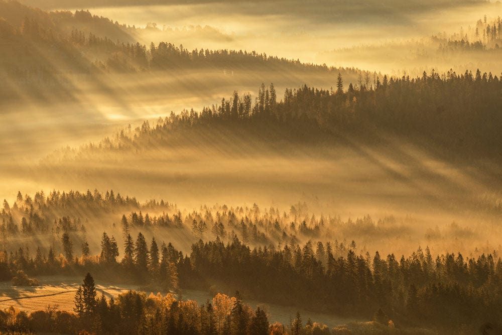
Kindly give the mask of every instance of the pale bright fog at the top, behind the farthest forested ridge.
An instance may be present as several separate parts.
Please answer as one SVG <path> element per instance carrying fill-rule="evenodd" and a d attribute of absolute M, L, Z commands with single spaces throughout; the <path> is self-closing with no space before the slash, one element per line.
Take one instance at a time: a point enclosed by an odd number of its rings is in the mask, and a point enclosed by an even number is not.
<path fill-rule="evenodd" d="M 473 27 L 484 15 L 496 18 L 502 14 L 502 6 L 498 2 L 411 2 L 402 6 L 390 2 L 216 2 L 91 7 L 90 11 L 136 27 L 155 24 L 157 29 L 140 35 L 144 43 L 168 40 L 189 49 L 257 50 L 317 64 L 421 74 L 424 69 L 453 67 L 463 72 L 467 65 L 476 66 L 465 59 L 448 66 L 434 57 L 418 57 L 417 49 L 419 54 L 423 49 L 419 40 Z M 399 53 L 394 48 L 372 50 L 388 43 L 404 44 L 405 52 L 403 48 Z"/>

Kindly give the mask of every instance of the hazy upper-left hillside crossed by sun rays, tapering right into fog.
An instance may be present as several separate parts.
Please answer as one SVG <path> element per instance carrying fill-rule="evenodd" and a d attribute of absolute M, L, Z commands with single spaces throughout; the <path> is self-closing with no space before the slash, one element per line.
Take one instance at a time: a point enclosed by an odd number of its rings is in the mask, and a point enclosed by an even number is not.
<path fill-rule="evenodd" d="M 168 85 L 171 76 L 180 78 L 178 86 L 192 77 L 216 81 L 234 74 L 253 78 L 262 72 L 281 78 L 278 81 L 299 82 L 304 77 L 329 84 L 338 72 L 353 79 L 361 73 L 255 51 L 187 50 L 166 42 L 147 47 L 138 42 L 141 29 L 88 11 L 44 12 L 2 0 L 0 13 L 0 77 L 7 83 L 0 88 L 3 103 L 92 99 L 95 92 L 90 87 L 113 92 L 112 98 L 101 98 L 127 100 L 131 94 L 126 91 L 133 91 L 155 100 L 162 94 L 159 86 Z M 131 86 L 131 81 L 137 84 Z"/>

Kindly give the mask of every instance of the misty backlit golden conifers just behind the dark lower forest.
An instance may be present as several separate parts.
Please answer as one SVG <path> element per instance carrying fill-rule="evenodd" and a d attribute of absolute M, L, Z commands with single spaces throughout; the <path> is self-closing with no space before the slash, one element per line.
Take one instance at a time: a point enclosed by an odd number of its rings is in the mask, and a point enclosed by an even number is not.
<path fill-rule="evenodd" d="M 339 238 L 340 242 L 335 241 L 333 245 L 337 257 L 347 251 L 347 236 L 351 239 L 396 237 L 408 232 L 403 223 L 397 222 L 393 216 L 378 221 L 369 215 L 355 220 L 350 217 L 342 220 L 337 215 L 316 217 L 301 202 L 292 205 L 288 212 L 281 212 L 274 207 L 264 211 L 254 204 L 250 207 L 204 205 L 199 210 L 182 213 L 175 204 L 163 200 L 149 200 L 140 204 L 135 198 L 115 195 L 113 191 L 52 191 L 48 196 L 38 192 L 33 198 L 28 195 L 23 197 L 18 192 L 12 204 L 4 200 L 0 222 L 0 250 L 10 252 L 12 259 L 18 256 L 30 259 L 35 252 L 33 246 L 40 247 L 37 250 L 40 257 L 43 253 L 52 254 L 51 258 L 54 259 L 59 254 L 87 257 L 95 253 L 98 247 L 102 248 L 103 244 L 108 245 L 105 242 L 108 238 L 99 233 L 102 230 L 107 230 L 117 238 L 135 236 L 140 232 L 148 236 L 175 234 L 186 240 L 188 247 L 199 239 L 218 238 L 230 242 L 234 236 L 238 236 L 245 244 L 256 246 Z M 468 228 L 458 225 L 448 226 L 444 233 L 459 237 L 473 234 Z M 439 230 L 430 235 L 429 241 L 442 238 Z M 109 239 L 113 243 L 115 237 L 112 235 Z M 119 247 L 121 250 L 127 249 L 121 244 Z M 78 263 L 73 257 L 66 259 Z M 63 260 L 60 263 L 63 264 Z"/>

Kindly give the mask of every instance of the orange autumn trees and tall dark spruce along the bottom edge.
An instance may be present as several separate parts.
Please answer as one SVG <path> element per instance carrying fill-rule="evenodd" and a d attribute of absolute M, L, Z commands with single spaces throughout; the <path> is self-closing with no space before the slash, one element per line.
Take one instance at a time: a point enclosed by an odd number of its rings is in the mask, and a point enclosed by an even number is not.
<path fill-rule="evenodd" d="M 87 273 L 74 302 L 75 314 L 50 307 L 29 315 L 13 308 L 0 311 L 0 330 L 261 335 L 268 334 L 270 328 L 266 312 L 260 307 L 253 311 L 243 303 L 238 292 L 236 298 L 217 294 L 212 301 L 200 306 L 195 301 L 177 300 L 172 293 L 147 296 L 143 292 L 128 291 L 116 299 L 107 299 L 104 294 L 97 296 L 94 280 Z"/>

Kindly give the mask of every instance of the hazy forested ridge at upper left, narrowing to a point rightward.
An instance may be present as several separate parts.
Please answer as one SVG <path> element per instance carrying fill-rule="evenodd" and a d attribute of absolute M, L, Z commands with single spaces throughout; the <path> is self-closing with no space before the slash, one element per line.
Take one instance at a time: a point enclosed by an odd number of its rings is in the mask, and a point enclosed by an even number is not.
<path fill-rule="evenodd" d="M 88 11 L 44 12 L 14 1 L 0 0 L 0 97 L 45 97 L 58 92 L 71 97 L 75 81 L 106 84 L 99 75 L 108 72 L 217 69 L 308 71 L 330 75 L 353 68 L 302 63 L 242 50 L 187 50 L 161 42 L 149 47 L 137 42 L 138 29 L 113 23 Z M 49 90 L 48 90 L 49 89 Z M 51 93 L 52 92 L 52 93 Z"/>

